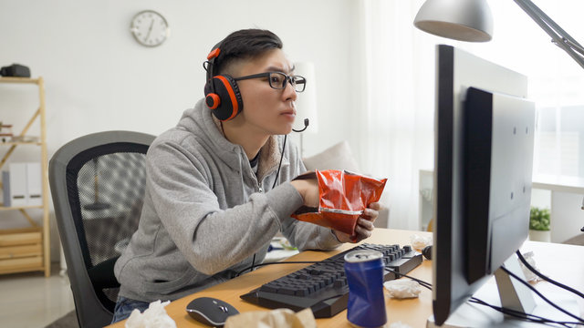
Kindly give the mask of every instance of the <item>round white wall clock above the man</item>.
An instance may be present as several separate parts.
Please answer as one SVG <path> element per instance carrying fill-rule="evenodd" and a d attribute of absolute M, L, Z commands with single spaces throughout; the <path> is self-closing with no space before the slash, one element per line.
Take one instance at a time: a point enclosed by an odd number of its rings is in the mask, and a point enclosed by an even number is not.
<path fill-rule="evenodd" d="M 144 10 L 131 19 L 131 34 L 142 46 L 160 46 L 170 35 L 166 19 L 153 10 Z"/>

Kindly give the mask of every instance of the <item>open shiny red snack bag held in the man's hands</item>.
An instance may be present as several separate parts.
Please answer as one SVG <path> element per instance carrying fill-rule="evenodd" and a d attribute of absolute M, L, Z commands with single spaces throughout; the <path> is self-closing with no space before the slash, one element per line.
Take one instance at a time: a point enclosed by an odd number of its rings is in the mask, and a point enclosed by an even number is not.
<path fill-rule="evenodd" d="M 302 206 L 292 217 L 355 235 L 357 219 L 370 203 L 380 200 L 387 179 L 373 179 L 349 171 L 307 172 L 296 179 L 318 179 L 317 208 Z"/>

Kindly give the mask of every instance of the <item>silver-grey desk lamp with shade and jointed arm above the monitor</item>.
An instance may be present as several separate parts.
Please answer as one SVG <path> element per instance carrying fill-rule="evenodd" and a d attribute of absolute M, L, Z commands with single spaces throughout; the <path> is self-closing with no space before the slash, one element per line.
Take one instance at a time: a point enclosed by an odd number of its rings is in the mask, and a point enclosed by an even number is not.
<path fill-rule="evenodd" d="M 552 42 L 584 68 L 584 47 L 530 0 L 514 0 Z M 493 36 L 493 15 L 486 0 L 427 0 L 413 20 L 424 32 L 460 41 L 485 42 Z"/>

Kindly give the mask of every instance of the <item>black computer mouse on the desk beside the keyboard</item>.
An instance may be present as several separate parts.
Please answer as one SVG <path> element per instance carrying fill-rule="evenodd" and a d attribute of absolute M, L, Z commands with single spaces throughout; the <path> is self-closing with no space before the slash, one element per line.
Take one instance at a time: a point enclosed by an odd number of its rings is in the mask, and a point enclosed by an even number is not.
<path fill-rule="evenodd" d="M 223 327 L 227 317 L 239 313 L 233 305 L 213 297 L 195 298 L 186 306 L 186 312 L 199 323 L 214 327 Z"/>

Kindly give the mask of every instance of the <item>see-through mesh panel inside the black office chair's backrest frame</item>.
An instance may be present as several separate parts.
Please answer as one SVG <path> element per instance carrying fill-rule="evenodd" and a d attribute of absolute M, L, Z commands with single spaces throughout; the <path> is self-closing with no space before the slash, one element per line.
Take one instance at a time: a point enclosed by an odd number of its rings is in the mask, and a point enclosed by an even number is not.
<path fill-rule="evenodd" d="M 91 265 L 120 256 L 138 229 L 144 198 L 144 154 L 99 156 L 79 169 L 77 185 Z"/>

